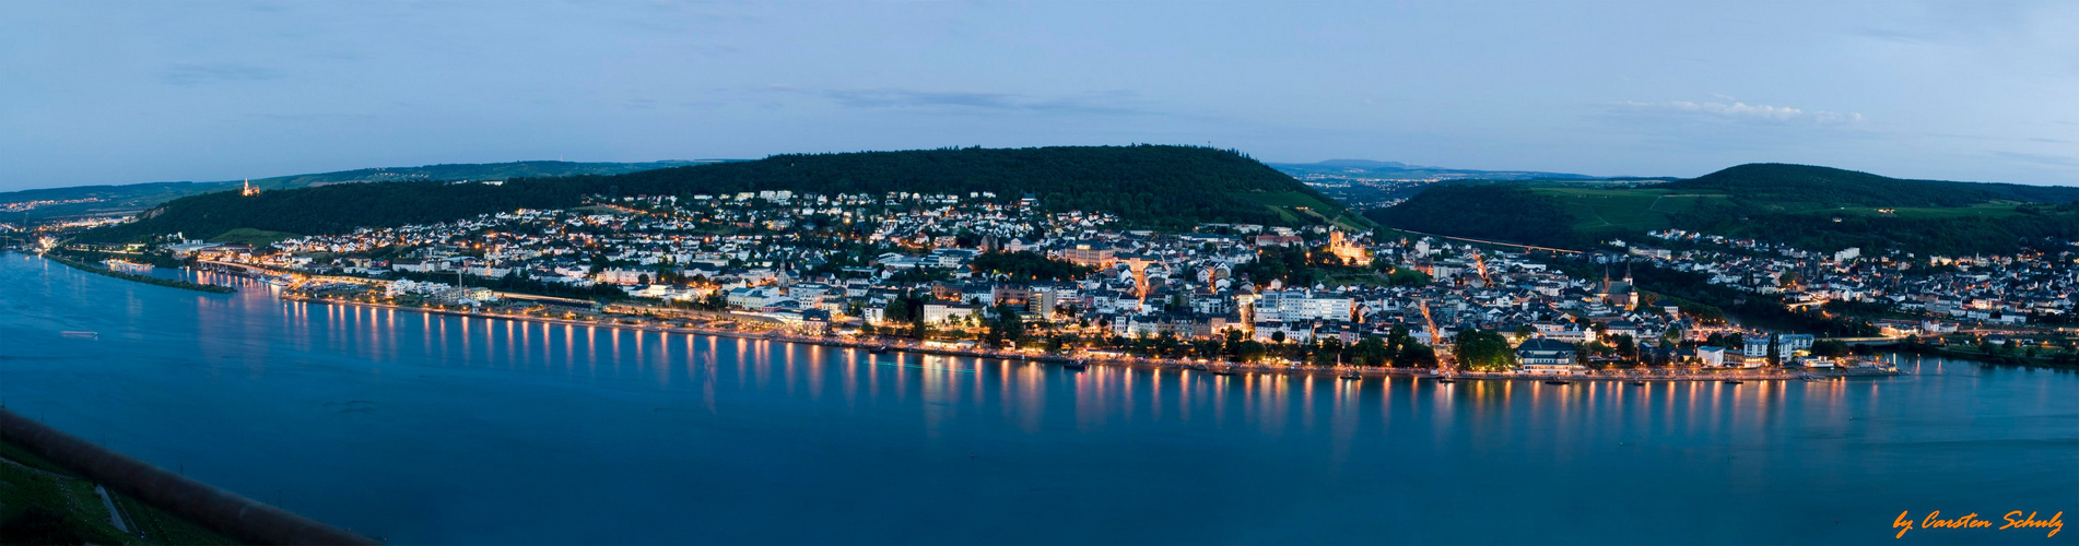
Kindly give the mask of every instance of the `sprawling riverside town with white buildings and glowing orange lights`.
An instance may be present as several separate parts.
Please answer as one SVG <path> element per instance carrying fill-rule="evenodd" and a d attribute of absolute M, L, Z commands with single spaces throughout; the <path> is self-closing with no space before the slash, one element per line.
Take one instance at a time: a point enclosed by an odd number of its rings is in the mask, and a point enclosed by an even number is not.
<path fill-rule="evenodd" d="M 1680 230 L 1570 253 L 1351 226 L 1119 224 L 1031 195 L 757 191 L 64 251 L 239 268 L 341 303 L 1079 359 L 1582 376 L 1877 365 L 1850 343 L 1944 336 L 1981 351 L 2029 343 L 2031 357 L 2071 345 L 2025 334 L 2071 309 L 2069 255 L 1909 260 Z M 1703 278 L 1792 324 L 1834 326 L 1740 326 L 1640 289 L 1634 272 Z"/>

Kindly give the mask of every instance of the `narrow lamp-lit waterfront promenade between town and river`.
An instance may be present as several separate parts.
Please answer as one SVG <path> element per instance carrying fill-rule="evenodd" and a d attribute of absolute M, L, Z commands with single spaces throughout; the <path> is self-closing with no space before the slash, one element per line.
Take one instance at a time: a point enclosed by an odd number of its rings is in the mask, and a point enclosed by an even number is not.
<path fill-rule="evenodd" d="M 507 313 L 482 313 L 482 311 L 455 311 L 455 309 L 430 309 L 430 307 L 410 307 L 410 305 L 389 305 L 389 303 L 368 303 L 368 301 L 345 301 L 345 299 L 324 299 L 324 297 L 304 297 L 304 295 L 279 295 L 281 301 L 297 303 L 320 303 L 320 305 L 351 305 L 370 309 L 393 309 L 393 311 L 416 311 L 430 316 L 457 316 L 457 318 L 484 318 L 484 320 L 516 320 L 516 322 L 538 322 L 538 324 L 561 324 L 561 326 L 590 326 L 590 328 L 626 328 L 642 332 L 661 334 L 696 334 L 696 336 L 721 336 L 721 338 L 751 338 L 751 340 L 778 340 L 778 343 L 800 343 L 800 345 L 821 345 L 838 349 L 879 349 L 888 347 L 888 353 L 921 353 L 921 355 L 942 355 L 942 357 L 979 357 L 979 359 L 1004 359 L 1004 361 L 1037 361 L 1037 363 L 1098 363 L 1098 365 L 1125 365 L 1125 367 L 1146 367 L 1146 370 L 1191 370 L 1191 372 L 1229 372 L 1229 374 L 1283 374 L 1283 376 L 1360 376 L 1360 378 L 1451 378 L 1451 380 L 1516 380 L 1516 382 L 1792 382 L 1792 380 L 1832 380 L 1832 378 L 1890 378 L 1904 376 L 1904 372 L 1881 372 L 1881 370 L 1825 370 L 1825 372 L 1790 372 L 1790 370 L 1728 370 L 1728 372 L 1686 372 L 1686 370 L 1642 370 L 1642 372 L 1665 372 L 1665 374 L 1578 374 L 1578 376 L 1553 376 L 1553 374 L 1497 374 L 1497 372 L 1441 372 L 1435 367 L 1331 367 L 1331 365 L 1272 365 L 1272 363 L 1231 363 L 1231 361 L 1179 361 L 1179 359 L 1141 359 L 1141 357 L 1067 357 L 1067 355 L 1033 355 L 1015 351 L 990 351 L 990 349 L 954 349 L 954 347 L 923 347 L 915 340 L 852 340 L 836 336 L 790 336 L 775 332 L 738 332 L 738 330 L 709 330 L 709 328 L 682 328 L 682 326 L 655 326 L 655 324 L 617 324 L 617 322 L 588 322 L 588 320 L 561 320 L 561 318 L 536 318 L 536 316 L 507 316 Z"/>

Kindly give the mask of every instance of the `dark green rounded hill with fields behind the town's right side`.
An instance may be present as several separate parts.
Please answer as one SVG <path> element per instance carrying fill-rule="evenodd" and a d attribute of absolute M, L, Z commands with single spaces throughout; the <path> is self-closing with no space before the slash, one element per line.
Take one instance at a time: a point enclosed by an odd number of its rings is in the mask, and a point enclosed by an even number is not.
<path fill-rule="evenodd" d="M 1798 164 L 1742 164 L 1669 183 L 1441 185 L 1368 216 L 1389 226 L 1588 247 L 1684 228 L 1911 253 L 2062 249 L 2079 237 L 2075 187 L 1888 179 Z"/>

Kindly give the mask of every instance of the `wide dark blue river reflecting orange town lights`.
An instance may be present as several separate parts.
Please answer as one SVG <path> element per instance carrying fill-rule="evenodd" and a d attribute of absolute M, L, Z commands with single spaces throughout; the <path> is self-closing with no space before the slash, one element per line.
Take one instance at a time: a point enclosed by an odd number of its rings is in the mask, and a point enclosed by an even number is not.
<path fill-rule="evenodd" d="M 1906 357 L 1915 376 L 1821 384 L 1439 386 L 888 365 L 12 253 L 0 307 L 10 409 L 399 544 L 1838 544 L 1892 542 L 1900 511 L 2079 509 L 2071 372 Z"/>

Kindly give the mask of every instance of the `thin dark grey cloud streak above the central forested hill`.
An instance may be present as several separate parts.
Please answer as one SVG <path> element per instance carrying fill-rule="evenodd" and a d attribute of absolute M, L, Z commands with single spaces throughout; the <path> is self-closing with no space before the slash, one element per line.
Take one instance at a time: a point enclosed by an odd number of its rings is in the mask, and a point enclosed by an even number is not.
<path fill-rule="evenodd" d="M 1056 114 L 1146 114 L 1133 91 L 1094 91 L 1056 98 L 1035 98 L 1002 91 L 925 91 L 925 89 L 796 89 L 773 85 L 771 91 L 792 91 L 825 98 L 844 108 L 911 108 L 944 112 L 1056 112 Z"/>

